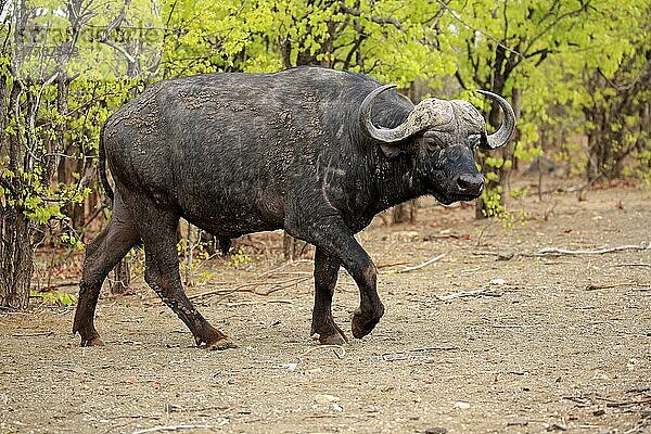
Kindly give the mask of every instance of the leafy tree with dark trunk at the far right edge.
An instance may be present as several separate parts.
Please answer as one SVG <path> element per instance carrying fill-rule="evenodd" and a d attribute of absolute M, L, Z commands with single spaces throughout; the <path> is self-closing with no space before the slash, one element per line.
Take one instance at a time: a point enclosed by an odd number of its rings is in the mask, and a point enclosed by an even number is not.
<path fill-rule="evenodd" d="M 591 47 L 576 76 L 584 92 L 575 99 L 587 120 L 588 181 L 617 178 L 626 157 L 651 154 L 651 5 L 623 2 L 595 15 L 601 26 L 586 23 Z M 597 55 L 602 47 L 607 55 Z"/>

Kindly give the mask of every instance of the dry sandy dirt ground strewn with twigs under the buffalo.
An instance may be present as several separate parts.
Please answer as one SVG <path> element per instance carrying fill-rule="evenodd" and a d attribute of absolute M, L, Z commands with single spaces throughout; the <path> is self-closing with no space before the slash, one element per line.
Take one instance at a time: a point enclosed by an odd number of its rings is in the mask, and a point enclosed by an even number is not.
<path fill-rule="evenodd" d="M 512 228 L 432 200 L 418 225 L 378 218 L 359 240 L 386 314 L 343 348 L 309 339 L 311 264 L 270 254 L 188 290 L 216 292 L 195 303 L 234 349 L 194 347 L 141 281 L 103 294 L 104 347 L 78 346 L 72 308 L 2 314 L 0 433 L 650 433 L 651 250 L 537 253 L 649 245 L 651 195 L 582 197 L 532 192 Z M 345 331 L 357 305 L 342 272 Z"/>

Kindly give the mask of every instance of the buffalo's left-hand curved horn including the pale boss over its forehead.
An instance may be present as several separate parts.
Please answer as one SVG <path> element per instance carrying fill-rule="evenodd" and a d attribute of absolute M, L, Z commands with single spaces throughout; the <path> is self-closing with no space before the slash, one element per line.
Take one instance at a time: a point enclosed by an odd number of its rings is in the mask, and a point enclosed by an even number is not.
<path fill-rule="evenodd" d="M 447 101 L 430 98 L 421 101 L 407 116 L 407 119 L 395 128 L 378 128 L 371 120 L 373 100 L 382 92 L 395 88 L 396 85 L 380 86 L 369 93 L 359 107 L 359 119 L 362 128 L 373 139 L 383 143 L 395 143 L 405 140 L 424 129 L 449 123 L 454 117 L 451 105 Z"/>

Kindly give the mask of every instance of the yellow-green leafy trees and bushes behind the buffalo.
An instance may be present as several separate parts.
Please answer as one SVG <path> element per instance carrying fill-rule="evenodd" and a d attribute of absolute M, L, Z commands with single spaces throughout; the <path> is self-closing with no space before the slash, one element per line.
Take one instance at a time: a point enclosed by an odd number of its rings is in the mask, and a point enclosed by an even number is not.
<path fill-rule="evenodd" d="M 197 73 L 346 68 L 414 99 L 469 99 L 493 126 L 499 111 L 474 90 L 501 93 L 521 117 L 513 145 L 482 161 L 493 181 L 485 201 L 496 209 L 513 162 L 542 151 L 589 179 L 651 182 L 646 1 L 28 0 L 0 8 L 0 212 L 26 216 L 33 230 L 56 224 L 79 246 L 101 204 L 92 170 L 103 122 L 146 86 Z M 587 153 L 577 137 L 588 138 Z"/>

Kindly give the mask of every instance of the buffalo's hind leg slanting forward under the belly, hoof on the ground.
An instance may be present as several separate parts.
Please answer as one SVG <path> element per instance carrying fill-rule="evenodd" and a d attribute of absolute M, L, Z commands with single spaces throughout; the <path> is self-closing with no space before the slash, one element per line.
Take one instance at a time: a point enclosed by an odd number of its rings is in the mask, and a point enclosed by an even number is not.
<path fill-rule="evenodd" d="M 178 217 L 168 212 L 153 210 L 153 207 L 143 209 L 145 218 L 142 221 L 139 219 L 139 230 L 144 243 L 144 280 L 186 323 L 197 346 L 205 344 L 209 349 L 234 347 L 224 333 L 210 326 L 194 308 L 183 292 L 176 247 Z"/>

